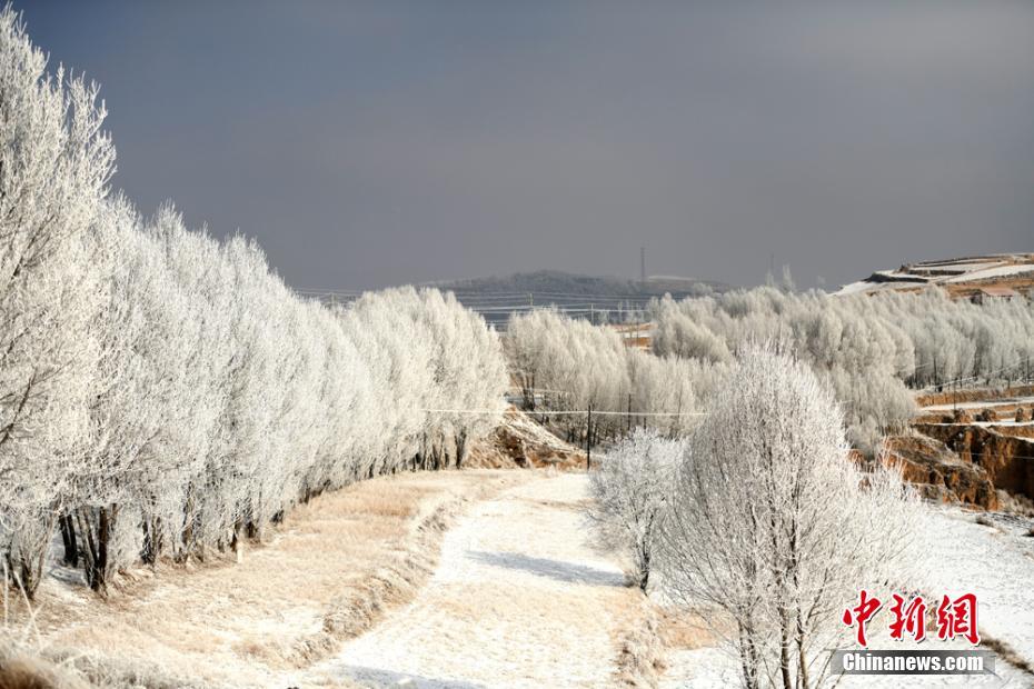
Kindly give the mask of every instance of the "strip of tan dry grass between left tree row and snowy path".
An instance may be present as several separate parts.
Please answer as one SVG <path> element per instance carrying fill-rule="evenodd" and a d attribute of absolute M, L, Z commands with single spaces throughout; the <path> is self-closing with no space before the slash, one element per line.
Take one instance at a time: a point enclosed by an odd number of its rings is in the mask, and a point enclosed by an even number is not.
<path fill-rule="evenodd" d="M 190 686 L 180 673 L 206 686 L 290 686 L 299 668 L 412 598 L 467 502 L 530 476 L 448 471 L 356 483 L 294 510 L 240 565 L 221 556 L 136 570 L 108 600 L 48 580 L 36 615 L 42 645 L 98 686 Z M 141 668 L 153 677 L 133 679 Z"/>

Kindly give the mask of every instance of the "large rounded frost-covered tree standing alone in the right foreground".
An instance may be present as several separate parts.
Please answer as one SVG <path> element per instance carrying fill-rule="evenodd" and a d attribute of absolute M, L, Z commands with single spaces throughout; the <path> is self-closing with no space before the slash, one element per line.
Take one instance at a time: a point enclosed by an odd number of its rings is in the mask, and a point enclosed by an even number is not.
<path fill-rule="evenodd" d="M 745 686 L 818 686 L 845 601 L 906 576 L 916 500 L 899 475 L 848 459 L 833 392 L 805 363 L 750 349 L 676 471 L 664 581 L 715 611 Z"/>

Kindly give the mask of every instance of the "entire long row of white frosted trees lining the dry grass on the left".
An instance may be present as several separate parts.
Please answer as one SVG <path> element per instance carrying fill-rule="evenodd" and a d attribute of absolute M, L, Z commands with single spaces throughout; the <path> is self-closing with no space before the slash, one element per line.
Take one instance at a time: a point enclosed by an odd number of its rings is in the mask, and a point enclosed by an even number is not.
<path fill-rule="evenodd" d="M 463 462 L 501 344 L 435 290 L 298 298 L 252 241 L 109 193 L 96 87 L 0 12 L 0 562 L 29 595 L 54 533 L 103 590 L 133 561 L 261 538 L 357 479 Z M 500 410 L 501 411 L 501 410 Z"/>

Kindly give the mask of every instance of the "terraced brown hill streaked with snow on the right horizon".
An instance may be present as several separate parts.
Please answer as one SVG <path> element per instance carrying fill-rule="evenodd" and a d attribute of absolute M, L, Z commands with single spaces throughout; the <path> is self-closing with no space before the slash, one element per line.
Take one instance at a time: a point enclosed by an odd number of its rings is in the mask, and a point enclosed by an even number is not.
<path fill-rule="evenodd" d="M 993 296 L 1030 293 L 1034 289 L 1034 253 L 995 253 L 905 263 L 877 270 L 865 280 L 845 284 L 837 294 L 879 291 L 918 291 L 939 287 L 956 299 L 987 292 Z"/>

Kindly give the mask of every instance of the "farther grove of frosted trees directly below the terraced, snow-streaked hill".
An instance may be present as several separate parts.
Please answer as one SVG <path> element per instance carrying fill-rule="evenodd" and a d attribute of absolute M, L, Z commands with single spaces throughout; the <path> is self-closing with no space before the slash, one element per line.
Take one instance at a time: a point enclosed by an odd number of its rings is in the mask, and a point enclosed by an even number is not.
<path fill-rule="evenodd" d="M 975 304 L 938 289 L 874 296 L 773 288 L 655 301 L 654 351 L 718 366 L 745 342 L 789 344 L 843 405 L 856 447 L 903 427 L 909 389 L 1008 385 L 1034 375 L 1034 304 Z"/>

